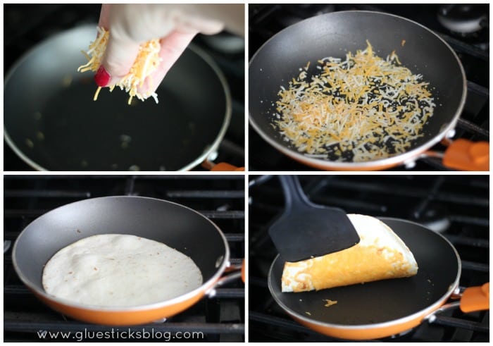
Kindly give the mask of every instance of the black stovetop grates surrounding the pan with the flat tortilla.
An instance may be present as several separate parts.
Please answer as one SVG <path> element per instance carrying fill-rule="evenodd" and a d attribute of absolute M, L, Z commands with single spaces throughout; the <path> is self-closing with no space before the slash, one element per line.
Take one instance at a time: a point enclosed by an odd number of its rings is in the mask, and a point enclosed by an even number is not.
<path fill-rule="evenodd" d="M 103 332 L 109 335 L 104 340 L 162 342 L 161 335 L 166 335 L 175 342 L 243 341 L 244 284 L 241 280 L 218 288 L 216 297 L 201 299 L 168 321 L 132 327 L 130 330 L 134 333 L 154 330 L 155 335 L 134 340 L 125 334 L 127 328 L 113 328 L 111 334 L 111 328 L 75 321 L 51 310 L 21 283 L 13 269 L 11 255 L 13 243 L 23 228 L 58 206 L 109 195 L 155 197 L 199 211 L 225 233 L 232 264 L 242 263 L 245 242 L 244 177 L 241 175 L 9 175 L 4 178 L 4 340 L 62 341 L 61 334 L 57 338 L 56 333 L 71 332 L 73 340 L 98 341 L 95 333 Z M 125 331 L 120 339 L 116 337 L 118 329 Z M 42 333 L 46 334 L 41 338 Z M 176 338 L 185 333 L 193 338 Z"/>

